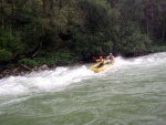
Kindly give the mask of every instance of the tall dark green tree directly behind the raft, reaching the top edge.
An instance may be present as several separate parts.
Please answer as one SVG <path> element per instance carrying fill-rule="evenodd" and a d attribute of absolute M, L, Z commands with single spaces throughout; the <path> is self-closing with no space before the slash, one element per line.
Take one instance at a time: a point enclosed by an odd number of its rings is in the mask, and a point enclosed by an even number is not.
<path fill-rule="evenodd" d="M 79 7 L 83 23 L 73 33 L 74 52 L 82 60 L 91 59 L 95 54 L 106 55 L 113 49 L 110 7 L 94 0 L 81 0 Z"/>

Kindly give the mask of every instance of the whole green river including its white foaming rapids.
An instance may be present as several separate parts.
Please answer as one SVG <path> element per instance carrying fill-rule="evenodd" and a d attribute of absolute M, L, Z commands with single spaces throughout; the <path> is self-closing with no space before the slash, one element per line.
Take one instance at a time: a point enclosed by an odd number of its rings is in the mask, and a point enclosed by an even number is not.
<path fill-rule="evenodd" d="M 0 80 L 0 125 L 166 125 L 166 52 Z"/>

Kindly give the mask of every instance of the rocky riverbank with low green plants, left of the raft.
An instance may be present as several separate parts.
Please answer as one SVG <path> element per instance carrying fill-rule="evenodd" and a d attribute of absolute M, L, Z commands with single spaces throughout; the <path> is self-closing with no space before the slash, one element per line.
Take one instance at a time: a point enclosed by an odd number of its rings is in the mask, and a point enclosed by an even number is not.
<path fill-rule="evenodd" d="M 12 63 L 11 61 L 0 65 L 0 79 L 11 75 L 24 75 L 33 71 L 51 70 L 56 66 L 77 64 L 77 59 L 70 52 L 56 53 L 54 55 L 24 58 Z"/>

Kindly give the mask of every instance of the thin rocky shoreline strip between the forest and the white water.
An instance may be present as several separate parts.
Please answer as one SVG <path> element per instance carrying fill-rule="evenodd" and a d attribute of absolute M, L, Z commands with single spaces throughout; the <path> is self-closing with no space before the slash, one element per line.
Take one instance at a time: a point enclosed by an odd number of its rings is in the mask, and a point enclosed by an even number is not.
<path fill-rule="evenodd" d="M 144 55 L 147 55 L 147 54 L 152 54 L 152 53 L 157 53 L 157 52 L 165 52 L 165 46 L 163 46 L 160 50 L 160 46 L 155 46 L 151 50 L 151 52 L 142 52 L 142 53 L 136 53 L 136 54 L 127 54 L 127 55 L 124 55 L 124 58 L 136 58 L 136 56 L 144 56 Z M 81 62 L 82 63 L 82 62 Z M 84 62 L 84 63 L 87 63 L 87 62 Z M 75 63 L 72 63 L 72 65 L 74 64 L 79 64 L 79 62 L 75 62 Z M 66 63 L 66 64 L 45 64 L 45 63 L 41 63 L 40 65 L 27 65 L 27 64 L 20 64 L 18 66 L 14 66 L 14 67 L 6 67 L 6 69 L 1 69 L 0 70 L 0 79 L 3 79 L 3 77 L 9 77 L 9 76 L 18 76 L 18 75 L 25 75 L 25 74 L 29 74 L 31 72 L 34 72 L 34 71 L 44 71 L 44 70 L 51 70 L 51 69 L 54 69 L 56 66 L 68 66 L 68 65 L 71 65 L 71 63 Z"/>

